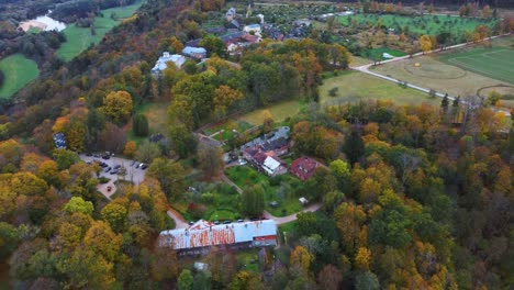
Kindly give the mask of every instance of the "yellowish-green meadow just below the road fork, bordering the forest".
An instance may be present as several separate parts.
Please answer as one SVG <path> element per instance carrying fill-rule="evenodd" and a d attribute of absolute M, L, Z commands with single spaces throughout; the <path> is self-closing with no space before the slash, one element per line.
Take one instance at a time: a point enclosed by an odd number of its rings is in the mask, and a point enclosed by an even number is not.
<path fill-rule="evenodd" d="M 336 97 L 329 90 L 337 88 Z M 340 76 L 323 80 L 320 87 L 322 105 L 359 100 L 390 100 L 398 104 L 438 104 L 439 99 L 431 99 L 427 93 L 402 88 L 396 83 L 358 71 L 347 71 Z"/>

